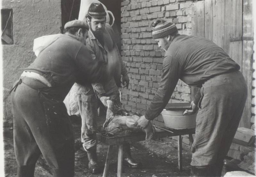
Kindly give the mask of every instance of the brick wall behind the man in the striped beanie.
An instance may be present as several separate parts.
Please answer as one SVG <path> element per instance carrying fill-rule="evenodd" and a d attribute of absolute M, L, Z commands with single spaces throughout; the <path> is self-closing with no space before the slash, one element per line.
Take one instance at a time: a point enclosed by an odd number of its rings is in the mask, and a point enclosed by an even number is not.
<path fill-rule="evenodd" d="M 127 110 L 144 114 L 161 80 L 164 50 L 152 39 L 150 24 L 165 19 L 176 24 L 180 34 L 191 34 L 192 0 L 123 0 L 121 2 L 121 55 L 130 78 L 122 89 L 122 103 Z M 190 102 L 191 89 L 182 81 L 169 103 Z M 158 116 L 154 124 L 163 125 Z"/>

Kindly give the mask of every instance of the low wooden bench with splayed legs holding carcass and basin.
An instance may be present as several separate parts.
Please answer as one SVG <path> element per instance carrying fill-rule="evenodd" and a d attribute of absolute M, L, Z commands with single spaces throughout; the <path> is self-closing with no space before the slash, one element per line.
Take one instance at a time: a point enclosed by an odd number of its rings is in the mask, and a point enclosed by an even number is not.
<path fill-rule="evenodd" d="M 171 132 L 164 131 L 164 130 L 157 130 L 154 134 L 154 138 L 164 138 L 164 137 L 171 137 L 171 136 L 179 136 L 178 139 L 178 165 L 179 170 L 182 171 L 182 139 L 181 135 L 189 135 L 189 144 L 192 146 L 193 143 L 193 136 L 192 134 L 195 134 L 195 128 L 191 129 L 181 129 L 181 130 L 175 130 L 171 128 L 164 127 L 165 129 L 168 129 Z M 118 146 L 118 160 L 117 160 L 117 177 L 122 176 L 122 164 L 123 164 L 123 144 L 128 142 L 138 142 L 138 141 L 145 141 L 146 134 L 143 132 L 139 133 L 132 133 L 131 135 L 124 135 L 124 136 L 112 136 L 109 137 L 104 133 L 97 133 L 97 139 L 100 142 L 103 142 L 108 145 L 108 152 L 107 157 L 105 161 L 104 171 L 103 171 L 103 177 L 107 176 L 108 172 L 108 166 L 110 162 L 110 155 L 113 149 L 114 145 Z"/>

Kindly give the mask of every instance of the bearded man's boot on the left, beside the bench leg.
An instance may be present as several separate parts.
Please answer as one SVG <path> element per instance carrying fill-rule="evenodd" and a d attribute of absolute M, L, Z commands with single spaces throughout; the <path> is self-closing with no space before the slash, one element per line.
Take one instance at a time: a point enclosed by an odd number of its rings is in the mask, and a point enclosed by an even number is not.
<path fill-rule="evenodd" d="M 98 160 L 97 160 L 97 154 L 96 154 L 96 147 L 90 148 L 87 150 L 87 157 L 89 160 L 88 167 L 89 167 L 89 172 L 92 174 L 100 173 L 100 167 L 98 165 Z"/>

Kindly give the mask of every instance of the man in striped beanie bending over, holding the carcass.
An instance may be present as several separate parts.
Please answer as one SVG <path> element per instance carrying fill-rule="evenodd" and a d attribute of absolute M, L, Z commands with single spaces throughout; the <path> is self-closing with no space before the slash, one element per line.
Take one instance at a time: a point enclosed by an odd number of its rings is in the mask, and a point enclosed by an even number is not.
<path fill-rule="evenodd" d="M 241 119 L 247 88 L 240 66 L 212 41 L 178 34 L 175 24 L 156 20 L 152 37 L 165 50 L 162 79 L 137 126 L 145 128 L 164 109 L 178 80 L 199 87 L 191 102 L 196 112 L 192 176 L 220 176 L 223 160 Z"/>

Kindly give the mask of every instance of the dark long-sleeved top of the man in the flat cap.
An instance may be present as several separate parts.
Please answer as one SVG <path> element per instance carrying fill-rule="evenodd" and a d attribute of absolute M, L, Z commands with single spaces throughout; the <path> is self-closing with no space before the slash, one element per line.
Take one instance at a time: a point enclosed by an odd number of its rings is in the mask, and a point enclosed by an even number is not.
<path fill-rule="evenodd" d="M 75 82 L 99 82 L 107 75 L 106 64 L 93 61 L 88 47 L 66 34 L 41 51 L 25 71 L 44 76 L 52 85 L 47 92 L 60 101 Z"/>

